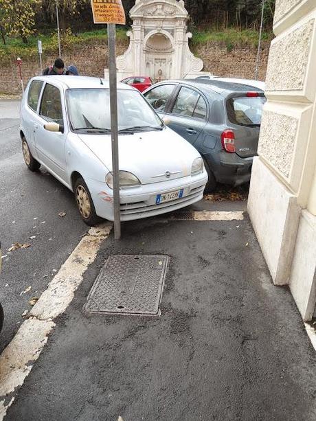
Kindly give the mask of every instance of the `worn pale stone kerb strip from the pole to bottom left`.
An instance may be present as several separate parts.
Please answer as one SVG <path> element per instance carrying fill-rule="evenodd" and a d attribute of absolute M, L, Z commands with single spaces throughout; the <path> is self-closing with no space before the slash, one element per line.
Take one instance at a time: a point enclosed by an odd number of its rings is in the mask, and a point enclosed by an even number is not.
<path fill-rule="evenodd" d="M 66 310 L 81 284 L 87 266 L 91 264 L 112 229 L 111 223 L 89 229 L 76 249 L 48 284 L 29 319 L 23 321 L 18 332 L 0 356 L 0 421 L 12 405 L 19 387 L 30 373 L 55 326 L 53 319 Z"/>

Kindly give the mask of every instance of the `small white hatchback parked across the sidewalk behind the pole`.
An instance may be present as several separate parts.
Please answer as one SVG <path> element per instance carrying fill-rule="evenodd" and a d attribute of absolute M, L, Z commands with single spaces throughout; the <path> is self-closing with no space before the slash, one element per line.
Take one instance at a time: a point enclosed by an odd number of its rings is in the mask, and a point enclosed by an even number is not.
<path fill-rule="evenodd" d="M 141 93 L 117 84 L 122 220 L 145 218 L 199 201 L 203 159 L 166 127 Z M 113 220 L 109 82 L 77 76 L 32 78 L 21 102 L 27 167 L 45 166 L 75 194 L 82 220 Z"/>

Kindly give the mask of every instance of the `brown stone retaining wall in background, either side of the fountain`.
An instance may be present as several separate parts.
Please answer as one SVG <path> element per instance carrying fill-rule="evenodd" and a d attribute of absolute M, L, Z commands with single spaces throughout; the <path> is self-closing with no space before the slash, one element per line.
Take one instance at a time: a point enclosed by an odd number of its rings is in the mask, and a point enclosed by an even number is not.
<path fill-rule="evenodd" d="M 117 45 L 117 56 L 123 54 L 127 44 Z M 196 54 L 204 62 L 204 70 L 210 71 L 218 76 L 240 77 L 253 79 L 256 67 L 255 48 L 234 47 L 231 52 L 227 52 L 227 47 L 207 43 L 206 45 L 196 47 Z M 259 79 L 264 80 L 267 71 L 267 57 L 269 46 L 264 45 L 261 52 Z M 21 57 L 23 60 L 23 82 L 26 86 L 27 81 L 40 73 L 39 60 L 27 60 L 27 57 Z M 43 67 L 51 65 L 54 62 L 54 56 L 43 56 Z M 63 54 L 65 65 L 76 65 L 78 71 L 86 76 L 104 76 L 104 67 L 107 67 L 107 47 L 106 45 L 87 45 Z M 15 62 L 9 62 L 8 66 L 0 65 L 0 93 L 20 94 L 21 82 L 18 75 L 18 69 Z"/>

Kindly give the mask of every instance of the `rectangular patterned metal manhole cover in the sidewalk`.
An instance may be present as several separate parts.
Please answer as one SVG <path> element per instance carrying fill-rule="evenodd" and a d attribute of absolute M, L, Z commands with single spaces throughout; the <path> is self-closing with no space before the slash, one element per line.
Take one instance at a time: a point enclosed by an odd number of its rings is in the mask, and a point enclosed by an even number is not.
<path fill-rule="evenodd" d="M 166 255 L 112 255 L 91 288 L 91 313 L 157 315 L 166 277 Z"/>

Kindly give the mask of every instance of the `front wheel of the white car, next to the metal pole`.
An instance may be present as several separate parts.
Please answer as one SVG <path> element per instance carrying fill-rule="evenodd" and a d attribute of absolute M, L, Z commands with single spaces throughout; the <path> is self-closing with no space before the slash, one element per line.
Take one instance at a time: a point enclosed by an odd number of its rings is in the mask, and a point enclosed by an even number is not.
<path fill-rule="evenodd" d="M 82 177 L 78 177 L 78 179 L 76 179 L 76 183 L 74 184 L 74 194 L 76 205 L 83 222 L 89 225 L 89 227 L 93 227 L 93 225 L 100 223 L 102 218 L 95 213 L 95 207 L 91 194 Z"/>

